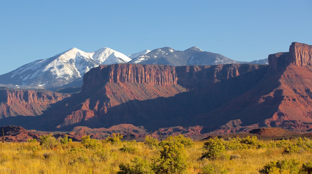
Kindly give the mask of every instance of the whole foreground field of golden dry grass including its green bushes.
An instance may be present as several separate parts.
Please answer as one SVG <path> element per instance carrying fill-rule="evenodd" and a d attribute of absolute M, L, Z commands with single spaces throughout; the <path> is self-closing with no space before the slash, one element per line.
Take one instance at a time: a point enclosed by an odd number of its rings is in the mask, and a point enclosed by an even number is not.
<path fill-rule="evenodd" d="M 0 143 L 0 173 L 308 173 L 312 141 L 258 140 L 256 137 L 209 139 L 176 136 L 160 142 L 106 140 L 81 142 L 51 135 L 40 141 Z M 265 167 L 266 165 L 266 167 Z M 259 172 L 262 170 L 262 172 Z"/>

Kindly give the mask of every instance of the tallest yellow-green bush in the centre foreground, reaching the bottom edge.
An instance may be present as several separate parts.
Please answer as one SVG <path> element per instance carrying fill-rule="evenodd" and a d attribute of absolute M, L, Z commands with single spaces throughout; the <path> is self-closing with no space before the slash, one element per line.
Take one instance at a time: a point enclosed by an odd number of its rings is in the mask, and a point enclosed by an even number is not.
<path fill-rule="evenodd" d="M 160 158 L 152 164 L 155 173 L 185 173 L 187 169 L 187 156 L 184 145 L 176 142 L 163 143 Z"/>

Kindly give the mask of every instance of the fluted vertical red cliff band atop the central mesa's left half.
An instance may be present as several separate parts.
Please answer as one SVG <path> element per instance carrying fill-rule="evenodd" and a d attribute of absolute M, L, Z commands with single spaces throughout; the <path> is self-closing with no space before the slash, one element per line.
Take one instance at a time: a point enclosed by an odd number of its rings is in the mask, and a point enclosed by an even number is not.
<path fill-rule="evenodd" d="M 143 83 L 169 86 L 177 84 L 175 67 L 169 65 L 100 65 L 84 75 L 82 90 L 105 83 Z"/>

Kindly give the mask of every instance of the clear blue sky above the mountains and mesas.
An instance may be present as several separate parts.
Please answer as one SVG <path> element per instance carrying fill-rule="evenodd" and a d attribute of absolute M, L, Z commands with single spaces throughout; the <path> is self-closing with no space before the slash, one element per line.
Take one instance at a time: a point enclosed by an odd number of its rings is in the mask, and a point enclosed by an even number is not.
<path fill-rule="evenodd" d="M 171 47 L 252 61 L 312 45 L 311 0 L 0 1 L 0 74 L 76 47 Z"/>

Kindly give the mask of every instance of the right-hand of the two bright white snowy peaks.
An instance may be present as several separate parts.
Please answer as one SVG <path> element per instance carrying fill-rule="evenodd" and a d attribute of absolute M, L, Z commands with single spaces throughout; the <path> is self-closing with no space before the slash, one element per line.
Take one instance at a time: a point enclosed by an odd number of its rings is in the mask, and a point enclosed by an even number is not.
<path fill-rule="evenodd" d="M 128 56 L 107 47 L 95 51 L 92 58 L 101 65 L 127 63 L 131 60 Z"/>

